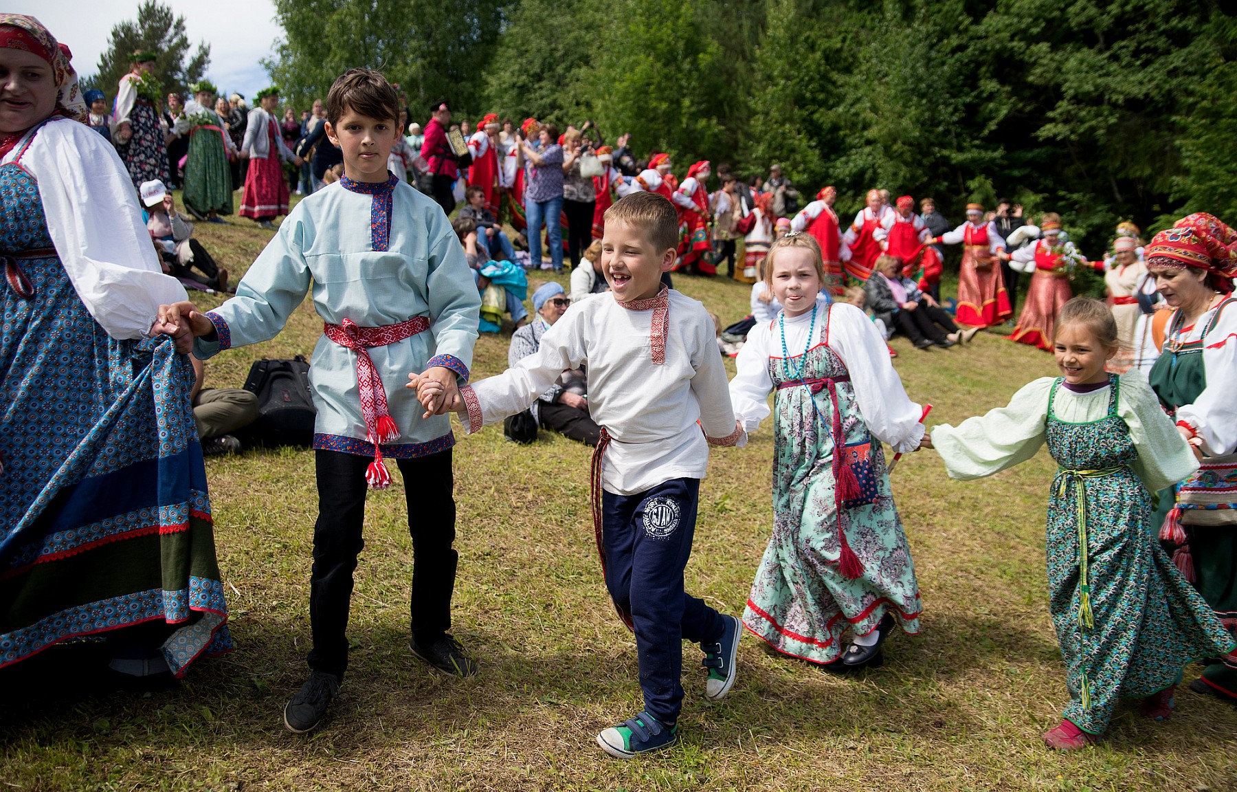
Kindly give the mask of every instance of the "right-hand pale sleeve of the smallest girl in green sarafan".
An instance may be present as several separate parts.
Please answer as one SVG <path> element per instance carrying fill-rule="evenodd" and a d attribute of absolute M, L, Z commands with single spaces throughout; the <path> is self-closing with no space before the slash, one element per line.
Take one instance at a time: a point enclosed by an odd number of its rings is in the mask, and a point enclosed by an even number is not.
<path fill-rule="evenodd" d="M 1119 387 L 1117 415 L 1129 427 L 1129 437 L 1138 449 L 1134 473 L 1147 489 L 1157 493 L 1192 475 L 1199 469 L 1199 460 L 1160 407 L 1147 375 L 1132 369 L 1121 375 Z"/>

